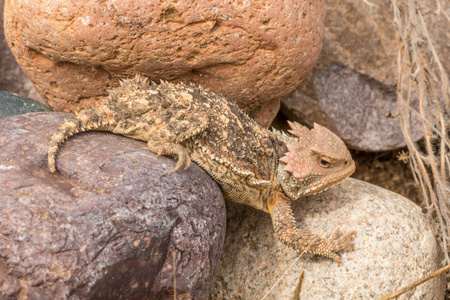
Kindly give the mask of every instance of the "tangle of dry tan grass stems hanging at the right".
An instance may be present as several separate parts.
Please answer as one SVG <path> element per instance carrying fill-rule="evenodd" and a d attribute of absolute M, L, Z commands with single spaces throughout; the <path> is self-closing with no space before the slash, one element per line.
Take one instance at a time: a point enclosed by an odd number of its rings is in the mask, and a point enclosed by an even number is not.
<path fill-rule="evenodd" d="M 399 118 L 409 151 L 409 165 L 421 187 L 421 205 L 436 225 L 444 254 L 443 265 L 447 265 L 450 263 L 448 75 L 435 51 L 417 1 L 407 0 L 404 11 L 399 9 L 396 0 L 393 0 L 393 6 L 401 41 L 398 52 Z M 435 13 L 445 12 L 438 10 Z M 448 22 L 442 24 L 443 27 L 450 26 L 450 19 L 447 16 L 446 19 Z M 414 108 L 414 101 L 418 102 L 418 108 Z M 425 133 L 420 146 L 411 139 L 413 115 L 419 116 Z"/>

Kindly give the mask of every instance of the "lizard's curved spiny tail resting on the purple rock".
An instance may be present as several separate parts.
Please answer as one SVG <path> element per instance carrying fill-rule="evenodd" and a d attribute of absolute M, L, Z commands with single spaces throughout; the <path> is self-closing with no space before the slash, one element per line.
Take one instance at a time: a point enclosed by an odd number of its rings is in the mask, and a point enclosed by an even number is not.
<path fill-rule="evenodd" d="M 48 168 L 56 171 L 55 160 L 59 147 L 71 136 L 85 131 L 110 131 L 116 124 L 111 111 L 88 109 L 77 113 L 73 118 L 65 120 L 53 134 L 48 145 Z"/>

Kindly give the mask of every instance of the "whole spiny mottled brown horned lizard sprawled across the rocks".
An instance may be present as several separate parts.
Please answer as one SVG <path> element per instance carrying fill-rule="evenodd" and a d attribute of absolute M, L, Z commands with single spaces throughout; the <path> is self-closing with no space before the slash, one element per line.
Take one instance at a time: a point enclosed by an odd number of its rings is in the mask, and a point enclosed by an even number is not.
<path fill-rule="evenodd" d="M 48 165 L 59 145 L 83 131 L 109 131 L 146 141 L 158 155 L 178 158 L 173 171 L 201 166 L 232 201 L 270 213 L 280 240 L 299 252 L 339 262 L 354 232 L 317 237 L 299 229 L 290 202 L 350 176 L 355 164 L 336 135 L 315 124 L 289 123 L 292 135 L 260 127 L 224 98 L 194 85 L 149 84 L 136 76 L 110 91 L 107 103 L 84 110 L 53 135 Z"/>

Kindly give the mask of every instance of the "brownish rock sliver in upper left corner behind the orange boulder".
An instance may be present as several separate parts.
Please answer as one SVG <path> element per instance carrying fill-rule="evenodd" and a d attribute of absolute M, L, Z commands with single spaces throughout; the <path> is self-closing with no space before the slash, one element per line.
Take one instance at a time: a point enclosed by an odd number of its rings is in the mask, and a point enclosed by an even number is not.
<path fill-rule="evenodd" d="M 0 0 L 0 90 L 16 93 L 45 103 L 20 68 L 6 42 L 3 30 L 4 5 L 5 0 Z"/>

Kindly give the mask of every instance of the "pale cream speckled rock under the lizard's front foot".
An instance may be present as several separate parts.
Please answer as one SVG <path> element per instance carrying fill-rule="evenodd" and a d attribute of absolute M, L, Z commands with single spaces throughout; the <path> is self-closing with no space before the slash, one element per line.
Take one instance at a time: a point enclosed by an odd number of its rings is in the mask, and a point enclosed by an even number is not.
<path fill-rule="evenodd" d="M 332 260 L 301 257 L 273 236 L 268 215 L 228 205 L 224 253 L 210 299 L 378 299 L 438 269 L 440 249 L 421 209 L 374 185 L 348 179 L 293 205 L 294 215 L 314 233 L 356 230 L 355 249 Z M 444 299 L 444 277 L 399 299 Z"/>

